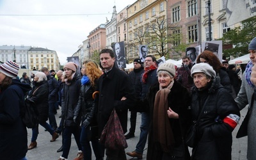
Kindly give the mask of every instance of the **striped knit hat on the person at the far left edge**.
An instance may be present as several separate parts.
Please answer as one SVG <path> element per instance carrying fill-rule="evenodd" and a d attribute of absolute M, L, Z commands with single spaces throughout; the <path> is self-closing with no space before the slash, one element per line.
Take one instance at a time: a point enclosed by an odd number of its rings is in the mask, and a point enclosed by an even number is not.
<path fill-rule="evenodd" d="M 0 66 L 0 72 L 5 76 L 16 78 L 19 72 L 19 65 L 13 61 L 6 61 Z"/>

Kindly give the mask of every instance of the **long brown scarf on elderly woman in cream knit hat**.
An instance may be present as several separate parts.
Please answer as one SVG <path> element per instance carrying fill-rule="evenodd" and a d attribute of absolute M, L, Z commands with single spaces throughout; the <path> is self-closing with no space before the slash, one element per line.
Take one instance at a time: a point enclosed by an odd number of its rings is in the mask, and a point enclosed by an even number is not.
<path fill-rule="evenodd" d="M 168 94 L 171 92 L 174 81 L 172 81 L 167 88 L 160 89 L 156 93 L 154 102 L 154 115 L 153 115 L 153 131 L 154 142 L 160 143 L 164 152 L 170 152 L 175 140 L 172 132 L 172 126 L 167 115 Z"/>

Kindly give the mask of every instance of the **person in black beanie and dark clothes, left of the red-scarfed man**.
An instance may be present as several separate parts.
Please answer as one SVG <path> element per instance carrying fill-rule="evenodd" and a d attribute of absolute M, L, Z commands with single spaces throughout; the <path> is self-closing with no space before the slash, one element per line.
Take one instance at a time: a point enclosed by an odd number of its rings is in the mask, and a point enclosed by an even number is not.
<path fill-rule="evenodd" d="M 141 78 L 141 74 L 143 74 L 144 72 L 142 64 L 143 62 L 139 58 L 134 59 L 133 61 L 134 68 L 129 73 L 129 77 L 132 81 L 132 86 L 134 87 L 134 90 L 136 92 L 135 97 L 138 97 L 138 98 L 140 97 L 140 78 Z M 136 102 L 136 105 L 138 106 L 134 106 L 134 108 L 140 108 L 139 102 Z M 136 128 L 137 111 L 136 109 L 130 109 L 130 111 L 131 111 L 131 116 L 130 116 L 131 127 L 129 129 L 129 132 L 125 135 L 126 139 L 134 137 L 134 132 Z"/>

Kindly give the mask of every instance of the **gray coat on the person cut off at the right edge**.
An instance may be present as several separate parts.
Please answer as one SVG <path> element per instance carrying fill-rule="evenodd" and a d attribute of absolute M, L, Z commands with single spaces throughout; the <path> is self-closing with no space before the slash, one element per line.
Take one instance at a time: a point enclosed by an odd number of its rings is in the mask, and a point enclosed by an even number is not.
<path fill-rule="evenodd" d="M 253 87 L 250 86 L 246 79 L 245 73 L 243 74 L 241 89 L 235 99 L 239 109 L 243 109 L 247 104 L 249 108 L 252 107 L 252 113 L 248 122 L 248 149 L 247 149 L 247 159 L 256 159 L 256 103 L 251 106 L 251 100 L 253 95 Z"/>

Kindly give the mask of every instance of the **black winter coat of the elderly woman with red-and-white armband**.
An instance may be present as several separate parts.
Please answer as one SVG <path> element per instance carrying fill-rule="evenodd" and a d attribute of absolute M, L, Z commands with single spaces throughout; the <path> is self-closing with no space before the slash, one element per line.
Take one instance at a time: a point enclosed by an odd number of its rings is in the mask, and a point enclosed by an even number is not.
<path fill-rule="evenodd" d="M 209 96 L 208 101 L 205 100 Z M 200 108 L 206 104 L 198 122 L 198 144 L 193 148 L 192 159 L 228 160 L 231 159 L 233 128 L 223 119 L 234 114 L 240 116 L 239 108 L 232 95 L 220 84 L 216 77 L 205 90 L 192 88 L 191 112 L 193 120 L 197 120 Z"/>

